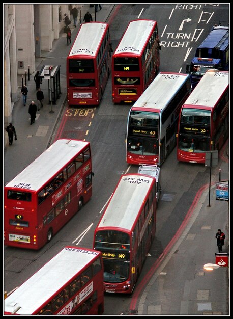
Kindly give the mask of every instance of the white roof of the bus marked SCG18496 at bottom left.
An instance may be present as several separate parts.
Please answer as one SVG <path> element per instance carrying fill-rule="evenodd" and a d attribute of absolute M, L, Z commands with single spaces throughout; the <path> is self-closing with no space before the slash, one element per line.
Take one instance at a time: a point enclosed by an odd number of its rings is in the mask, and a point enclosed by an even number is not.
<path fill-rule="evenodd" d="M 33 314 L 99 255 L 96 250 L 64 247 L 4 300 L 4 311 L 12 313 L 19 307 L 15 314 Z"/>

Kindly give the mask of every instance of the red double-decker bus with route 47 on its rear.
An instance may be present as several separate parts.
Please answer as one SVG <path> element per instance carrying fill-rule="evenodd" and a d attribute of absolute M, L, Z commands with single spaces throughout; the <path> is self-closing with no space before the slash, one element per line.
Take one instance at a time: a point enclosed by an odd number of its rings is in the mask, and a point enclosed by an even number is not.
<path fill-rule="evenodd" d="M 4 188 L 4 244 L 39 249 L 92 196 L 90 143 L 60 139 Z"/>

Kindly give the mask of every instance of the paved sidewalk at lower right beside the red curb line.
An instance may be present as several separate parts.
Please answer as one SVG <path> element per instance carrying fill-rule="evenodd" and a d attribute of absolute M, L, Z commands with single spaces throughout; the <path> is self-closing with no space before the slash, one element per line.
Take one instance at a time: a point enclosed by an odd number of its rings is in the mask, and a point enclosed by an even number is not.
<path fill-rule="evenodd" d="M 228 147 L 224 153 L 228 157 Z M 221 180 L 228 180 L 229 163 L 219 168 Z M 212 183 L 219 181 L 215 171 Z M 203 269 L 206 263 L 215 264 L 219 228 L 226 235 L 222 252 L 229 252 L 229 204 L 215 196 L 214 184 L 209 207 L 209 185 L 200 192 L 185 229 L 152 269 L 154 275 L 136 307 L 138 315 L 229 315 L 229 268 Z"/>

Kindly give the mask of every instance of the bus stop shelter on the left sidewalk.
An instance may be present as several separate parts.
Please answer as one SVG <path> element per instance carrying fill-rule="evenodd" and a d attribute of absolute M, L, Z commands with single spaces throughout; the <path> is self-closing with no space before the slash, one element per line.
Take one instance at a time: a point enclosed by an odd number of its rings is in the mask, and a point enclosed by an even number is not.
<path fill-rule="evenodd" d="M 56 100 L 60 98 L 61 84 L 60 84 L 60 66 L 61 65 L 43 65 L 39 76 L 44 79 L 48 79 L 48 92 L 49 101 L 48 104 L 56 104 Z"/>

